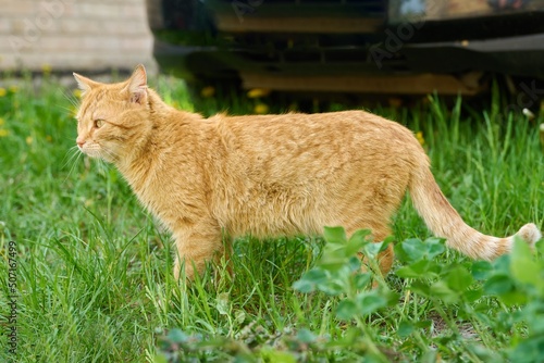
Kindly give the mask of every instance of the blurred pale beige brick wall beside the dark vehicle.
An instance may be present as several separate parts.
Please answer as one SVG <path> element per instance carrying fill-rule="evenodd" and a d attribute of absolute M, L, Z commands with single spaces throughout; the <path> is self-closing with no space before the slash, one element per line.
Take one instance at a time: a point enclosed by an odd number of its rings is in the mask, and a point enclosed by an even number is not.
<path fill-rule="evenodd" d="M 0 71 L 153 72 L 152 45 L 146 0 L 0 0 Z"/>

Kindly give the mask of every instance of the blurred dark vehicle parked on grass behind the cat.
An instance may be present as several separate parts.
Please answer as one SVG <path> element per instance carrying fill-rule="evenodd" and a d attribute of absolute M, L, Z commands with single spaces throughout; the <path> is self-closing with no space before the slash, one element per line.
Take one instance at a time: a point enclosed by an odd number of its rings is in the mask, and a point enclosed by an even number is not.
<path fill-rule="evenodd" d="M 544 0 L 163 0 L 156 58 L 193 82 L 474 95 L 544 79 Z"/>

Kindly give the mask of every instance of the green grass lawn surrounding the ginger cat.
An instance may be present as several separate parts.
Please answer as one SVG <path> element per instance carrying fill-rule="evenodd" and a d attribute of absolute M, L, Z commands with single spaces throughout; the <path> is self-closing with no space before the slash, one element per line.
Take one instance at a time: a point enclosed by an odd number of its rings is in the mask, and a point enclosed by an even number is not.
<path fill-rule="evenodd" d="M 251 113 L 256 103 L 269 102 L 231 95 L 228 105 L 213 98 L 195 105 L 182 83 L 160 77 L 156 86 L 168 102 L 205 114 Z M 293 289 L 322 250 L 323 242 L 312 238 L 240 240 L 234 280 L 219 267 L 222 279 L 209 272 L 189 289 L 180 287 L 171 275 L 169 234 L 113 167 L 76 157 L 73 101 L 71 89 L 48 79 L 0 97 L 0 276 L 8 276 L 9 241 L 15 241 L 21 362 L 144 362 L 161 352 L 217 362 L 237 353 L 238 361 L 290 362 L 289 355 L 353 362 L 364 352 L 374 361 L 435 361 L 438 355 L 478 361 L 506 359 L 532 331 L 515 320 L 519 308 L 492 295 L 448 302 L 415 292 L 413 280 L 395 273 L 409 265 L 406 260 L 376 290 L 395 293 L 396 302 L 338 318 L 342 293 Z M 537 123 L 502 117 L 505 108 L 498 97 L 489 110 L 460 100 L 445 105 L 431 97 L 411 110 L 376 112 L 422 132 L 435 177 L 468 224 L 506 235 L 527 222 L 543 225 L 544 154 Z M 409 201 L 394 218 L 394 233 L 396 241 L 429 237 Z M 474 271 L 453 251 L 436 262 L 444 271 L 458 265 Z M 484 283 L 474 284 L 478 290 Z M 11 326 L 3 298 L 10 295 L 8 279 L 1 279 L 0 290 L 4 333 Z M 407 326 L 416 333 L 408 334 Z M 188 338 L 173 336 L 181 334 L 174 328 Z M 0 338 L 0 362 L 5 362 L 13 355 L 7 352 L 7 336 Z M 169 352 L 172 341 L 185 350 Z M 369 345 L 383 355 L 369 353 Z"/>

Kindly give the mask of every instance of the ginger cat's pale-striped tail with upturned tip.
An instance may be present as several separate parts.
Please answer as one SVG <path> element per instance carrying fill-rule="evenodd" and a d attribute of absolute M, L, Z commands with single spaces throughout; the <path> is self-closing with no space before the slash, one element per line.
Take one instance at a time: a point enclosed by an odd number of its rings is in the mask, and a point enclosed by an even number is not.
<path fill-rule="evenodd" d="M 472 259 L 492 260 L 511 250 L 515 236 L 530 246 L 542 238 L 541 231 L 532 223 L 526 224 L 516 235 L 506 238 L 486 236 L 471 228 L 444 197 L 429 164 L 425 164 L 411 176 L 410 197 L 429 229 L 437 237 L 446 238 L 448 247 Z"/>

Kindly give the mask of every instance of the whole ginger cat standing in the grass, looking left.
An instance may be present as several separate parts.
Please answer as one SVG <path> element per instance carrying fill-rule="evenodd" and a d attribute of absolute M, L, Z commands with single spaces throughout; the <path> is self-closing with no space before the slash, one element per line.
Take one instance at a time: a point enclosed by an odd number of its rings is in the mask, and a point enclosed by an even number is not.
<path fill-rule="evenodd" d="M 449 247 L 485 260 L 511 248 L 514 236 L 485 236 L 465 224 L 412 133 L 395 122 L 363 111 L 203 118 L 165 104 L 147 87 L 143 65 L 119 84 L 74 76 L 84 91 L 79 150 L 113 163 L 172 231 L 176 278 L 183 265 L 190 279 L 227 253 L 224 236 L 320 235 L 339 225 L 383 240 L 406 190 Z M 517 235 L 530 245 L 541 238 L 534 224 Z M 392 263 L 390 245 L 382 272 Z"/>

